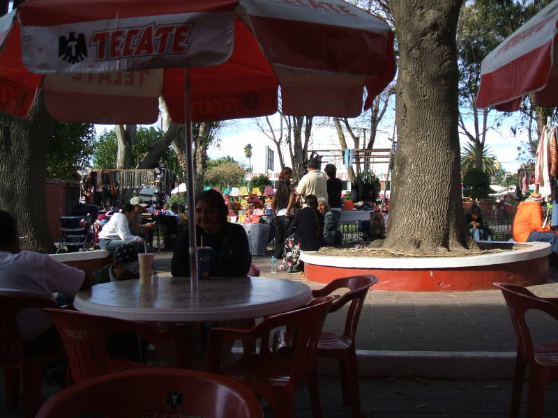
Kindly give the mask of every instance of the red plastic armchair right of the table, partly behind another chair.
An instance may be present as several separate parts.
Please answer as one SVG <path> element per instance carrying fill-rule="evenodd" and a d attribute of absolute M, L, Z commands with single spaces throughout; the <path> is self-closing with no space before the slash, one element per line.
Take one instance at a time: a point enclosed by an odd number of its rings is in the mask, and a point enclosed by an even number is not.
<path fill-rule="evenodd" d="M 345 320 L 345 331 L 341 335 L 333 332 L 322 332 L 319 336 L 317 356 L 334 357 L 339 361 L 339 370 L 342 382 L 343 402 L 351 405 L 353 418 L 361 417 L 361 400 L 359 394 L 359 376 L 356 372 L 355 336 L 356 327 L 359 325 L 362 307 L 366 293 L 370 286 L 376 284 L 377 277 L 354 276 L 335 279 L 324 288 L 312 291 L 314 297 L 324 297 L 339 289 L 348 288 L 331 304 L 330 313 L 338 311 L 350 302 Z M 278 354 L 289 349 L 290 330 L 281 330 L 273 337 L 273 346 Z"/>

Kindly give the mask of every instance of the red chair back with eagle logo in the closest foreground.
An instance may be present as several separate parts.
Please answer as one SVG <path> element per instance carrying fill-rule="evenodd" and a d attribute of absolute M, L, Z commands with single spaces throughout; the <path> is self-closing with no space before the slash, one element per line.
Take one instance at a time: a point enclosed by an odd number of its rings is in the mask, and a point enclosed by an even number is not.
<path fill-rule="evenodd" d="M 112 373 L 63 390 L 37 418 L 263 418 L 256 396 L 240 382 L 204 371 L 142 369 Z M 87 415 L 89 416 L 89 415 Z"/>

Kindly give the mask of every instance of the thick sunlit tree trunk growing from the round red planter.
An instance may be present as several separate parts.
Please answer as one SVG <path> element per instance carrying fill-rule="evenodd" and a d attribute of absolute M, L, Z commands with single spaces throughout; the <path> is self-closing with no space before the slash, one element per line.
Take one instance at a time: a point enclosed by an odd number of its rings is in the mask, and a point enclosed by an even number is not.
<path fill-rule="evenodd" d="M 465 227 L 460 190 L 455 31 L 461 4 L 390 1 L 400 51 L 399 142 L 384 247 L 420 253 L 475 245 Z"/>

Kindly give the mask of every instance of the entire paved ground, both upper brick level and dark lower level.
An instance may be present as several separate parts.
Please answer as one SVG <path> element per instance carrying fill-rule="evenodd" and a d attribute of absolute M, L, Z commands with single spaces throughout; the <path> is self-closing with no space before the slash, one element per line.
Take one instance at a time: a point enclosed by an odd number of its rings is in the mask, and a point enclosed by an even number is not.
<path fill-rule="evenodd" d="M 170 274 L 171 257 L 171 253 L 156 257 L 160 275 Z M 262 276 L 271 275 L 268 257 L 254 257 L 254 263 Z M 276 277 L 303 280 L 311 288 L 322 286 L 301 274 L 279 272 Z M 558 272 L 552 270 L 548 282 L 530 289 L 541 296 L 558 295 Z M 342 313 L 329 316 L 326 328 L 340 330 L 343 320 Z M 536 341 L 558 341 L 558 321 L 544 316 L 531 320 Z M 499 291 L 410 293 L 372 288 L 361 315 L 357 348 L 363 417 L 508 416 L 515 335 Z M 320 366 L 325 371 L 320 377 L 324 417 L 350 417 L 340 398 L 336 365 Z M 45 385 L 47 396 L 58 390 Z M 312 416 L 306 391 L 297 397 L 296 410 L 297 417 Z M 20 409 L 6 410 L 2 390 L 0 417 L 21 416 Z M 266 417 L 272 416 L 266 410 Z M 545 417 L 558 418 L 558 382 L 548 388 Z"/>

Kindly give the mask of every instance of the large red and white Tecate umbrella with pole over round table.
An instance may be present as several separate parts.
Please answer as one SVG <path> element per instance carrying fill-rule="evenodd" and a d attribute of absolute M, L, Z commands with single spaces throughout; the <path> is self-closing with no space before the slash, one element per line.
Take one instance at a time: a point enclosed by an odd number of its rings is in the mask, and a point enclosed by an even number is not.
<path fill-rule="evenodd" d="M 197 288 L 192 121 L 357 116 L 395 75 L 393 33 L 341 0 L 27 0 L 0 19 L 0 111 L 39 87 L 54 118 L 186 122 L 190 274 Z"/>

